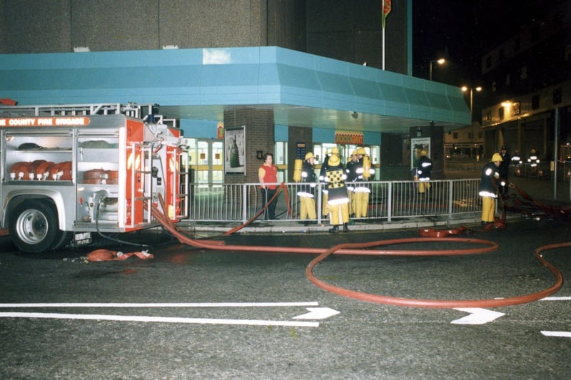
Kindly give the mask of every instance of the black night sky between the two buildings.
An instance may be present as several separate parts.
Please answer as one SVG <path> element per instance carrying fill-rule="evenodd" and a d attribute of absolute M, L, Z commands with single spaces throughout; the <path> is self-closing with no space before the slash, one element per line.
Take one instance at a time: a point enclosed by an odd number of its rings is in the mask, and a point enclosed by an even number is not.
<path fill-rule="evenodd" d="M 398 1 L 398 0 L 393 0 Z M 481 56 L 545 14 L 546 6 L 568 0 L 413 0 L 413 75 L 453 86 L 475 86 Z"/>

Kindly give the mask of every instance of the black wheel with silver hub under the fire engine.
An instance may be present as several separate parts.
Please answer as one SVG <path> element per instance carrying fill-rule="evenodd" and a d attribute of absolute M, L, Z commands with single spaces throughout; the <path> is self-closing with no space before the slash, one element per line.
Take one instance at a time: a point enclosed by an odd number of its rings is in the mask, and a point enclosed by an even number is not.
<path fill-rule="evenodd" d="M 64 244 L 54 205 L 41 200 L 22 202 L 10 215 L 9 232 L 12 242 L 22 252 L 44 252 Z"/>

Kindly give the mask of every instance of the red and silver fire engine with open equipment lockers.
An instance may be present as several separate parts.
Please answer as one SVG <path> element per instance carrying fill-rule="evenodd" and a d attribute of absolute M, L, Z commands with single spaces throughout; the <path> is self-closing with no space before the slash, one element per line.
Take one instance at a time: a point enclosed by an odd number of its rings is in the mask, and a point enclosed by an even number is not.
<path fill-rule="evenodd" d="M 22 252 L 187 216 L 186 139 L 156 105 L 0 106 L 0 228 Z M 168 124 L 168 125 L 167 125 Z"/>

